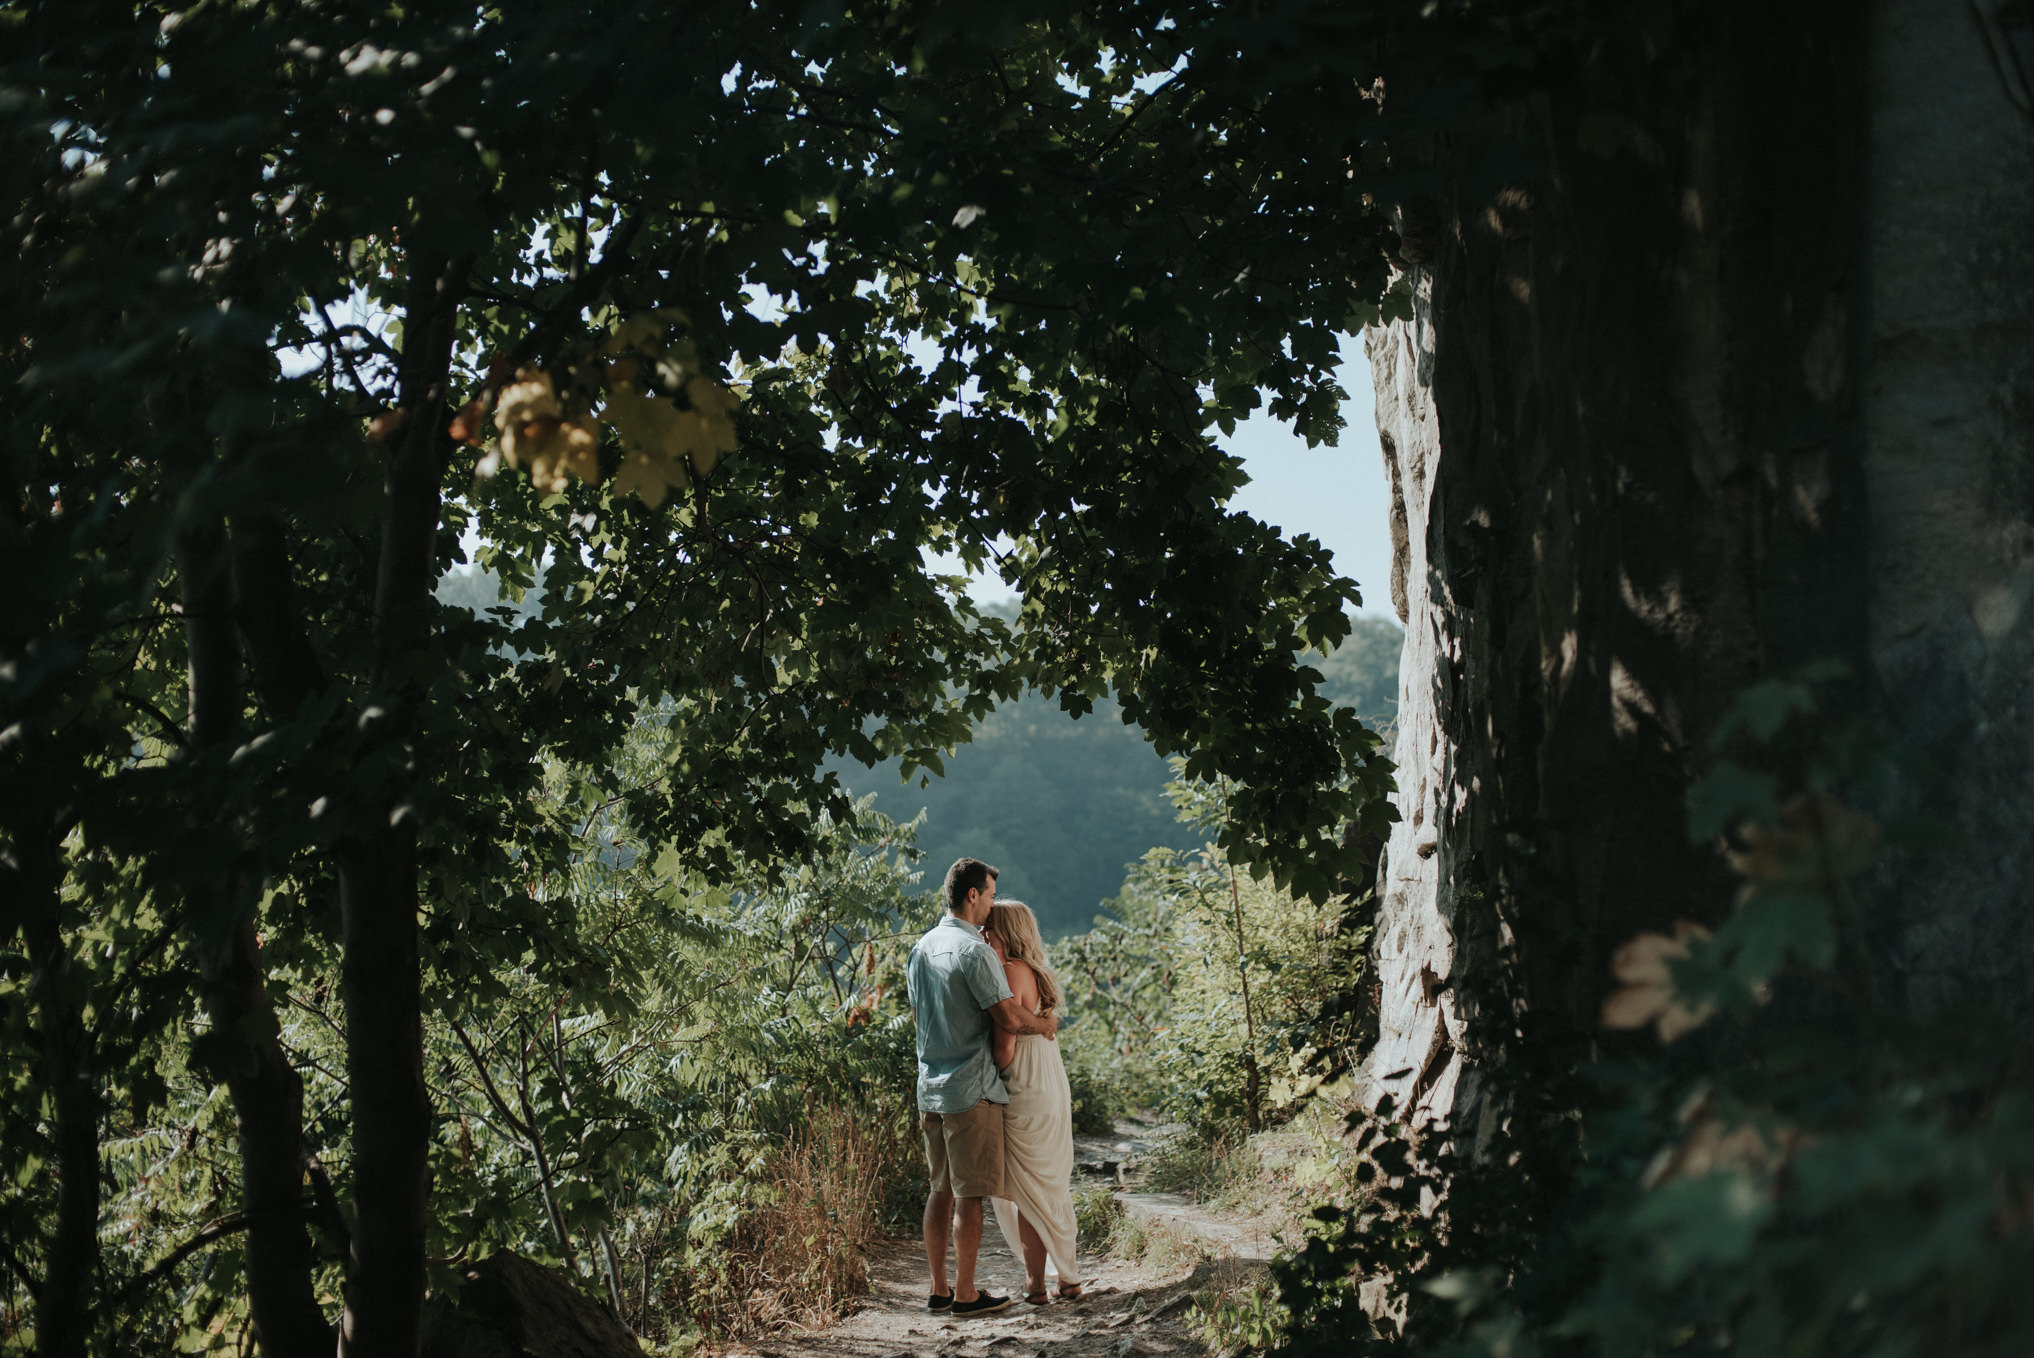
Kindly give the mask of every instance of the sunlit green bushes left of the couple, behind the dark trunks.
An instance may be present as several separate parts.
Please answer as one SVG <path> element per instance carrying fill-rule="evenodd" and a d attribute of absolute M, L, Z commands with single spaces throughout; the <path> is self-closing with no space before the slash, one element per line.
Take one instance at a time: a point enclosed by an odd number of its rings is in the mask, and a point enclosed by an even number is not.
<path fill-rule="evenodd" d="M 555 872 L 531 882 L 551 929 L 476 978 L 484 1006 L 431 1018 L 431 1254 L 519 1250 L 582 1277 L 641 1334 L 738 1336 L 838 1315 L 866 1289 L 875 1234 L 915 1218 L 897 935 L 932 907 L 907 864 L 909 827 L 866 807 L 777 884 L 757 868 L 712 886 L 653 854 L 618 789 L 659 766 L 665 718 L 639 720 L 606 795 L 549 768 L 545 805 L 580 821 Z M 570 986 L 545 980 L 561 958 Z M 275 984 L 281 1041 L 307 1073 L 313 1163 L 344 1193 L 332 960 L 305 958 Z M 193 1045 L 161 1047 L 153 1118 L 112 1120 L 106 1210 L 130 1226 L 116 1277 L 138 1281 L 220 1220 L 232 1106 L 193 1067 Z M 185 1348 L 236 1344 L 234 1240 L 175 1256 L 128 1299 L 130 1315 L 187 1332 Z M 447 1267 L 437 1285 L 454 1277 Z M 321 1287 L 336 1299 L 338 1285 L 332 1250 Z"/>

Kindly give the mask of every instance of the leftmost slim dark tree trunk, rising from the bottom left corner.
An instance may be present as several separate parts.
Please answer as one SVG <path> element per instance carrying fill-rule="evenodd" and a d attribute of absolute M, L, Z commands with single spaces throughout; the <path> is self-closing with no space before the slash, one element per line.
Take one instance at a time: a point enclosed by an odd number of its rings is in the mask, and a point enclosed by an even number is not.
<path fill-rule="evenodd" d="M 47 888 L 49 903 L 26 935 L 57 1151 L 57 1222 L 35 1297 L 35 1352 L 39 1358 L 83 1358 L 100 1267 L 100 1092 L 89 1069 L 85 996 L 63 947 L 57 899 L 61 834 L 49 823 L 35 840 L 31 852 L 39 862 L 22 876 Z"/>

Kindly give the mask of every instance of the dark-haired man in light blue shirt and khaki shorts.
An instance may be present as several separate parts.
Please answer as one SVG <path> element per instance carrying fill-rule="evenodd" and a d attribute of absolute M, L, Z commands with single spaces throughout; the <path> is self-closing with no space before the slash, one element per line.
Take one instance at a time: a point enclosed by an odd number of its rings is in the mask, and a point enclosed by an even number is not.
<path fill-rule="evenodd" d="M 946 917 L 911 949 L 905 986 L 917 1021 L 917 1112 L 925 1132 L 925 1262 L 934 1311 L 986 1315 L 1011 1303 L 974 1289 L 982 1246 L 982 1199 L 1003 1195 L 1003 1106 L 1011 1102 L 989 1055 L 991 1025 L 1054 1037 L 1060 1021 L 1027 1014 L 1011 996 L 1003 964 L 982 939 L 997 901 L 997 870 L 962 858 L 946 870 Z M 960 1210 L 954 1210 L 954 1203 Z M 958 1230 L 956 1230 L 958 1218 Z M 946 1291 L 946 1246 L 954 1244 L 954 1291 Z"/>

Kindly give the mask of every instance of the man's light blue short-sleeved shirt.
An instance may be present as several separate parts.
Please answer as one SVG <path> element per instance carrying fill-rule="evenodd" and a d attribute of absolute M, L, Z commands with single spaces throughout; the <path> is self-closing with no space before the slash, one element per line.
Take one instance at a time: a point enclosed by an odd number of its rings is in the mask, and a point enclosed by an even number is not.
<path fill-rule="evenodd" d="M 911 949 L 905 992 L 917 1010 L 917 1110 L 1011 1102 L 989 1051 L 989 1006 L 1011 998 L 1003 962 L 976 925 L 948 915 Z"/>

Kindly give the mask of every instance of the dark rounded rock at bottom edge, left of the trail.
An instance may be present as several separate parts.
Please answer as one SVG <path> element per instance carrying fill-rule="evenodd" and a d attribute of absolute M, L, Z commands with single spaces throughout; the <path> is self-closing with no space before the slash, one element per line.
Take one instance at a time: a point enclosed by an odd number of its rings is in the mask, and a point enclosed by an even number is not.
<path fill-rule="evenodd" d="M 431 1303 L 423 1358 L 643 1358 L 643 1346 L 557 1269 L 492 1254 L 466 1271 L 458 1305 Z"/>

